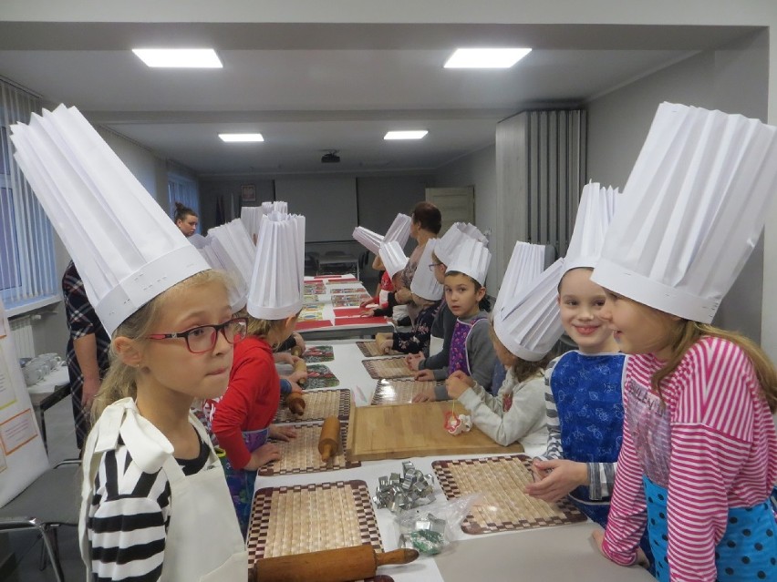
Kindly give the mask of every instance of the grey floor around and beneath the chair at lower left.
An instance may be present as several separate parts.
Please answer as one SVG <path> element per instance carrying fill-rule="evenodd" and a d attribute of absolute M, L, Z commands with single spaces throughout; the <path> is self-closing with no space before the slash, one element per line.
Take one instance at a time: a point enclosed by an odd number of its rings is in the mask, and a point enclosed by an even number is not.
<path fill-rule="evenodd" d="M 78 457 L 73 415 L 68 399 L 57 403 L 46 413 L 48 458 L 52 465 L 65 459 Z M 81 556 L 78 553 L 78 528 L 61 527 L 57 532 L 62 568 L 67 582 L 83 580 L 86 576 Z M 7 582 L 49 582 L 56 578 L 50 564 L 41 570 L 41 540 L 32 532 L 16 532 L 8 536 L 14 552 L 16 569 Z"/>

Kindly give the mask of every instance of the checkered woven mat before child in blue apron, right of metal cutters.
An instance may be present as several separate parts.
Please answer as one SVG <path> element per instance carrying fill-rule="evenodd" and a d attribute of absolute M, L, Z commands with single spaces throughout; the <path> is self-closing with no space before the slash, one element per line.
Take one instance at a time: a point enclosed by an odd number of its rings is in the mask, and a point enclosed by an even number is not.
<path fill-rule="evenodd" d="M 562 526 L 585 521 L 585 516 L 566 500 L 549 504 L 523 493 L 532 482 L 531 459 L 526 455 L 487 456 L 460 461 L 434 461 L 431 466 L 445 496 L 481 493 L 461 530 L 466 534 Z"/>

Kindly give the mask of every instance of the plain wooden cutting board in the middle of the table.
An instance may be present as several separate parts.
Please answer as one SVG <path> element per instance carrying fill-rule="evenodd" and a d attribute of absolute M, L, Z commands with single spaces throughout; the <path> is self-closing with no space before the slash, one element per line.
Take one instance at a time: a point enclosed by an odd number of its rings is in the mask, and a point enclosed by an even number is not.
<path fill-rule="evenodd" d="M 445 428 L 451 402 L 353 406 L 348 422 L 349 461 L 406 459 L 436 454 L 523 453 L 520 443 L 502 446 L 472 426 L 456 436 Z M 456 413 L 466 409 L 456 404 Z"/>

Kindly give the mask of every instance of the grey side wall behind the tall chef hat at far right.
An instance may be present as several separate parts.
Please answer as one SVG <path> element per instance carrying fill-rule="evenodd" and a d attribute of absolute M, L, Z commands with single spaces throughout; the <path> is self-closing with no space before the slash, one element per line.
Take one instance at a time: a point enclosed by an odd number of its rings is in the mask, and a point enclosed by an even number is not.
<path fill-rule="evenodd" d="M 662 101 L 767 117 L 766 31 L 705 51 L 588 105 L 588 177 L 623 188 Z M 761 341 L 763 244 L 752 253 L 715 323 Z"/>

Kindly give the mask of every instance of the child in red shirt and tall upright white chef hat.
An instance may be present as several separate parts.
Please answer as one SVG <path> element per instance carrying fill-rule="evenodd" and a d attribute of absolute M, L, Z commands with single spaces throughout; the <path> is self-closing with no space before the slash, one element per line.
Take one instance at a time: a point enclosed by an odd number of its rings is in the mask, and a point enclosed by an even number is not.
<path fill-rule="evenodd" d="M 295 383 L 281 383 L 273 350 L 294 331 L 302 310 L 305 217 L 271 210 L 260 220 L 258 237 L 246 309 L 238 313 L 248 322 L 247 335 L 235 348 L 226 393 L 210 403 L 212 431 L 226 453 L 227 484 L 243 534 L 256 471 L 280 458 L 268 439 L 296 436 L 293 426 L 272 424 L 282 390 L 302 392 Z"/>

